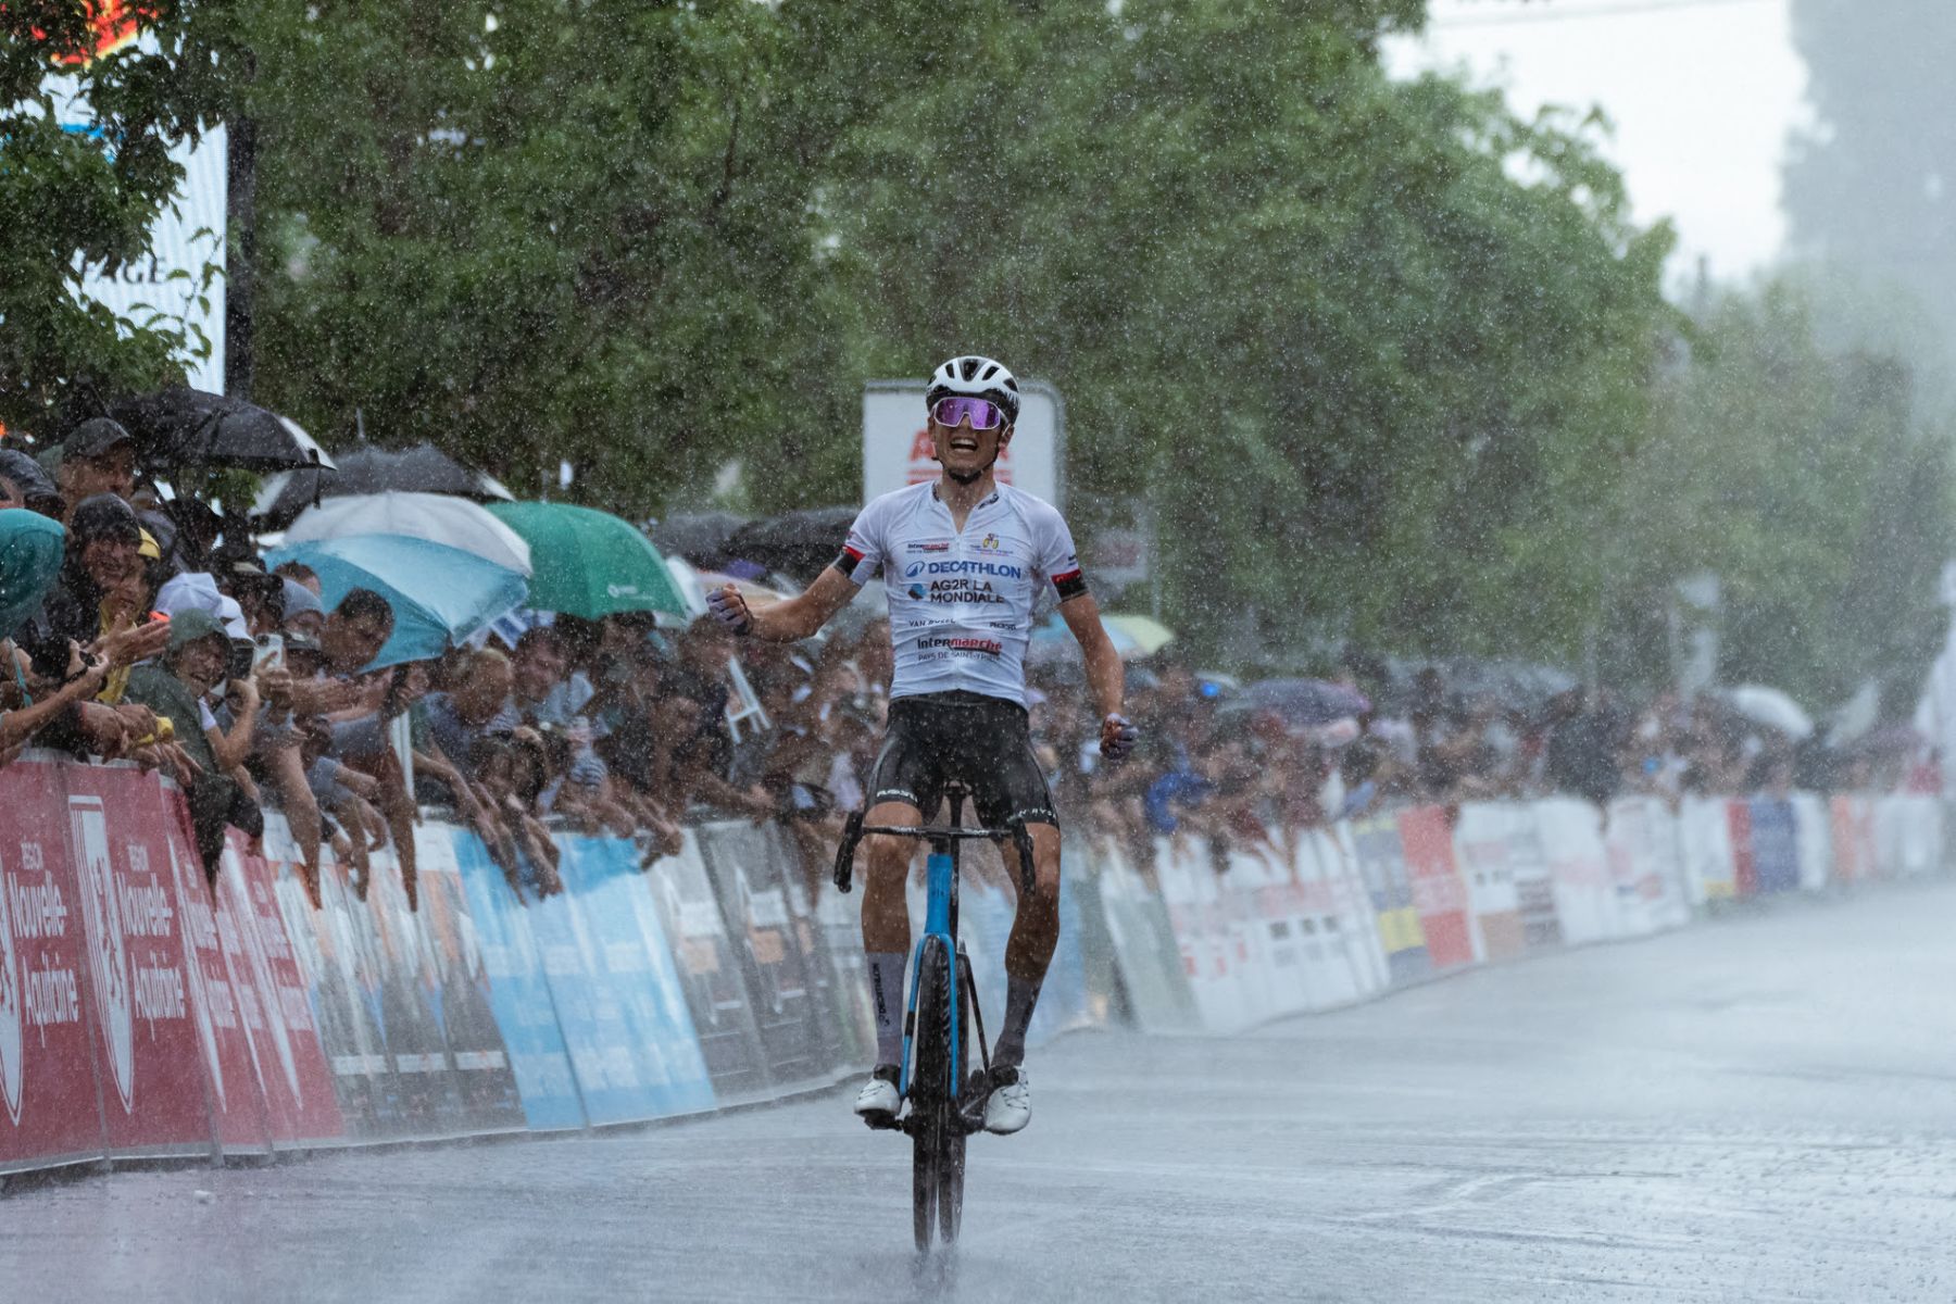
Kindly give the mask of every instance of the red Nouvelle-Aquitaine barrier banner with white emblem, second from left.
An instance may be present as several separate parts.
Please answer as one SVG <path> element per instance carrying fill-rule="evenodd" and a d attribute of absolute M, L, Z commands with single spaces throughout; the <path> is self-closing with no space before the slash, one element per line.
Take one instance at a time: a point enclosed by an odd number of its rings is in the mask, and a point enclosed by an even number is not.
<path fill-rule="evenodd" d="M 63 786 L 110 1152 L 209 1153 L 205 1056 L 156 780 L 76 764 L 63 766 Z"/>

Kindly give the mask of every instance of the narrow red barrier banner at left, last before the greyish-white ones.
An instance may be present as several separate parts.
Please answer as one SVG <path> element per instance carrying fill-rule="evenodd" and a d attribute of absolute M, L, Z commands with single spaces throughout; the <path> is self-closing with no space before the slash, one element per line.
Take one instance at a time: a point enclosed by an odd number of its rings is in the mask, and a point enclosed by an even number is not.
<path fill-rule="evenodd" d="M 333 1069 L 313 1021 L 313 1001 L 278 907 L 276 870 L 250 854 L 231 829 L 217 880 L 221 913 L 233 923 L 225 958 L 237 985 L 248 985 L 260 1019 L 248 1021 L 258 1089 L 280 1144 L 321 1144 L 346 1136 L 334 1099 Z"/>

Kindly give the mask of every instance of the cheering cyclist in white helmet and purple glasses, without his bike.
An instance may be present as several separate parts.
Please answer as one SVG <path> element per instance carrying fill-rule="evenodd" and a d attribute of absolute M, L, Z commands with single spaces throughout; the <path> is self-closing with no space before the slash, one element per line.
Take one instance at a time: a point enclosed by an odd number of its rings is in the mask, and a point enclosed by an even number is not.
<path fill-rule="evenodd" d="M 868 784 L 867 823 L 923 823 L 953 778 L 970 788 L 984 825 L 1000 827 L 1013 817 L 1027 823 L 1037 882 L 1019 901 L 1005 946 L 1005 1019 L 984 1110 L 986 1130 L 1007 1134 L 1031 1118 L 1025 1028 L 1060 936 L 1060 827 L 1025 723 L 1025 645 L 1041 585 L 1056 590 L 1060 616 L 1086 655 L 1101 710 L 1101 755 L 1119 761 L 1138 731 L 1121 716 L 1121 659 L 1080 575 L 1066 522 L 1050 504 L 994 477 L 1019 418 L 1019 383 L 990 358 L 962 356 L 937 368 L 923 401 L 941 465 L 935 481 L 896 489 L 865 506 L 835 565 L 800 596 L 751 610 L 728 585 L 708 594 L 708 606 L 737 633 L 804 639 L 882 571 L 896 678 L 882 755 Z M 892 835 L 867 843 L 863 948 L 878 1064 L 857 1095 L 855 1112 L 874 1118 L 900 1107 L 910 952 L 904 876 L 911 843 Z M 1013 848 L 1005 854 L 1017 864 Z"/>

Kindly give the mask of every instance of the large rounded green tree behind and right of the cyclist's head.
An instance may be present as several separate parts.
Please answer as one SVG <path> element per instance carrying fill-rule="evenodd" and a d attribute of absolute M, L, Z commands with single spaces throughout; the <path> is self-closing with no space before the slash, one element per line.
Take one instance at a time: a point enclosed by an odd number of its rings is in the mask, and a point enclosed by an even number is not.
<path fill-rule="evenodd" d="M 1549 598 L 1598 583 L 1569 526 L 1637 442 L 1668 233 L 1582 123 L 1391 82 L 1416 18 L 1045 6 L 841 158 L 872 366 L 1054 379 L 1076 514 L 1156 500 L 1197 641 L 1240 608 L 1291 647 L 1580 635 Z"/>

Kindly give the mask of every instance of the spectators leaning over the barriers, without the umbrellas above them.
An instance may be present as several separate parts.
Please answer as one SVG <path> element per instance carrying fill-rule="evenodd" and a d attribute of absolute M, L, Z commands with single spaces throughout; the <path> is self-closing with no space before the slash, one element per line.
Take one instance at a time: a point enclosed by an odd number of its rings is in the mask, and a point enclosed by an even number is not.
<path fill-rule="evenodd" d="M 649 866 L 700 815 L 778 823 L 814 880 L 863 804 L 888 708 L 880 618 L 771 645 L 704 616 L 534 616 L 512 641 L 370 671 L 391 628 L 381 594 L 354 588 L 329 610 L 303 565 L 268 571 L 235 522 L 139 481 L 111 420 L 43 459 L 0 450 L 0 762 L 35 745 L 164 768 L 207 864 L 227 827 L 256 837 L 278 809 L 315 901 L 323 847 L 364 891 L 370 852 L 391 845 L 413 895 L 428 809 L 475 827 L 532 895 L 561 888 L 552 829 L 636 839 Z M 1326 678 L 1373 706 L 1318 727 L 1174 655 L 1134 663 L 1144 745 L 1123 766 L 1097 755 L 1078 667 L 1043 663 L 1035 751 L 1062 817 L 1140 856 L 1158 835 L 1281 847 L 1391 802 L 1940 782 L 1921 764 L 1876 774 L 1874 753 L 1796 749 L 1713 698 L 1518 698 L 1350 661 Z"/>

